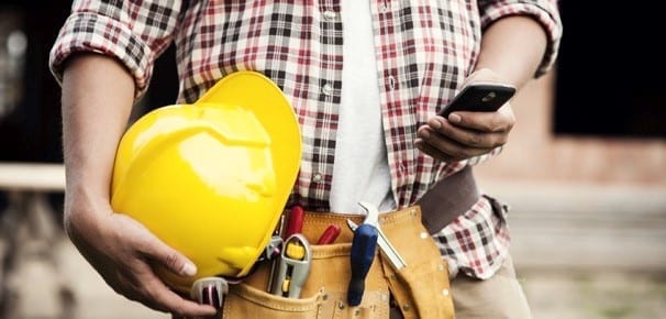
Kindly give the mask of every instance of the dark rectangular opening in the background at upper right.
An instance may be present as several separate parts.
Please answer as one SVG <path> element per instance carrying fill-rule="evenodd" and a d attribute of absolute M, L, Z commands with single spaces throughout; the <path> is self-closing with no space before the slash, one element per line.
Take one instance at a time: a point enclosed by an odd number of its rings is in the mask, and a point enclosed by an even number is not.
<path fill-rule="evenodd" d="M 555 134 L 666 138 L 664 15 L 653 8 L 661 4 L 559 6 Z"/>

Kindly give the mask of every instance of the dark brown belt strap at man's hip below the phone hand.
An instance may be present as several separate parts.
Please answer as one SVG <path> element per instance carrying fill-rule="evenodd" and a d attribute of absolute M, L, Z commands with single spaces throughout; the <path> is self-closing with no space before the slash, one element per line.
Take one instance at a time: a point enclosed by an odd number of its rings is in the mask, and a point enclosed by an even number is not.
<path fill-rule="evenodd" d="M 471 167 L 466 166 L 440 180 L 417 201 L 423 226 L 431 234 L 441 231 L 477 202 L 479 196 Z"/>

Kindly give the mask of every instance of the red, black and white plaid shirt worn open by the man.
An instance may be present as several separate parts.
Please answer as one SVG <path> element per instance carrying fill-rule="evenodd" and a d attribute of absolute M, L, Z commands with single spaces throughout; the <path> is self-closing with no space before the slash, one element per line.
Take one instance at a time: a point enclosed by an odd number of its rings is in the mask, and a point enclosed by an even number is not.
<path fill-rule="evenodd" d="M 560 24 L 555 0 L 370 1 L 384 134 L 399 207 L 414 204 L 435 182 L 499 152 L 457 163 L 423 155 L 412 142 L 423 124 L 473 72 L 484 26 L 528 14 L 550 36 L 535 76 L 553 64 Z M 301 124 L 302 163 L 290 204 L 329 210 L 343 43 L 338 1 L 75 1 L 53 46 L 49 65 L 74 52 L 114 56 L 133 74 L 137 97 L 155 58 L 177 46 L 178 102 L 192 102 L 224 75 L 257 70 L 290 99 Z M 353 10 L 353 9 L 348 9 Z M 369 106 L 375 107 L 375 106 Z M 509 249 L 506 211 L 486 198 L 434 235 L 452 275 L 491 276 Z"/>

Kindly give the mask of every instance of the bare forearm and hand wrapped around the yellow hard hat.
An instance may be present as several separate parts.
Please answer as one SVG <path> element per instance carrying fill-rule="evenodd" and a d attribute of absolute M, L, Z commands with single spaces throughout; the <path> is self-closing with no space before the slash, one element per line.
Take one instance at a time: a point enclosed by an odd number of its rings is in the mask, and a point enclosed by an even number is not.
<path fill-rule="evenodd" d="M 213 315 L 213 307 L 180 297 L 153 272 L 153 266 L 163 266 L 193 275 L 192 263 L 136 220 L 111 209 L 115 150 L 134 98 L 134 78 L 114 58 L 77 54 L 67 61 L 63 76 L 67 234 L 116 293 L 159 311 Z"/>

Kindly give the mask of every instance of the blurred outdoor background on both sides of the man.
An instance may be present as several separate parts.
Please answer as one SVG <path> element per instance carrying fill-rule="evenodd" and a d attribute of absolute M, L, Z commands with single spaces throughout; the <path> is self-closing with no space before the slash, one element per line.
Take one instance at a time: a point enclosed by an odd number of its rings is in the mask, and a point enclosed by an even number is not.
<path fill-rule="evenodd" d="M 535 319 L 666 318 L 661 11 L 564 2 L 558 64 L 514 98 L 510 143 L 476 174 L 511 207 Z M 169 318 L 113 293 L 62 232 L 47 58 L 69 6 L 0 2 L 0 318 Z M 158 61 L 137 114 L 173 103 L 173 59 L 168 50 Z"/>

